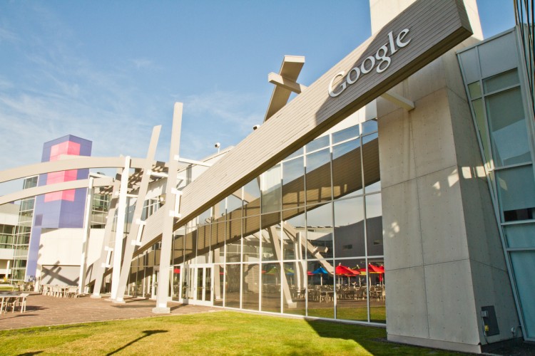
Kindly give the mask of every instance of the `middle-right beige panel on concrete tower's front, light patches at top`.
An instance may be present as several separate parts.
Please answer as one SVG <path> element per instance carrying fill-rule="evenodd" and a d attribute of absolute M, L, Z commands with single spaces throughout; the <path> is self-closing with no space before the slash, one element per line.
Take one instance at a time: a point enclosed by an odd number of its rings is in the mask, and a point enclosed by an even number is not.
<path fill-rule="evenodd" d="M 424 264 L 468 258 L 457 169 L 419 177 L 418 196 Z"/>

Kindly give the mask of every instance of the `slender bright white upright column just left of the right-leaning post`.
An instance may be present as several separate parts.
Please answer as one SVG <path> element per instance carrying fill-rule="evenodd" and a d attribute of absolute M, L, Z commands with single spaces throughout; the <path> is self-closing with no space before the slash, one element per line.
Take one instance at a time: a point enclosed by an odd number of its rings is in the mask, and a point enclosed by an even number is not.
<path fill-rule="evenodd" d="M 115 247 L 113 248 L 113 272 L 111 275 L 111 299 L 117 298 L 119 278 L 121 276 L 121 257 L 123 255 L 123 235 L 126 215 L 126 194 L 128 192 L 128 176 L 130 175 L 130 156 L 125 157 L 124 169 L 121 174 L 117 226 L 115 229 Z"/>

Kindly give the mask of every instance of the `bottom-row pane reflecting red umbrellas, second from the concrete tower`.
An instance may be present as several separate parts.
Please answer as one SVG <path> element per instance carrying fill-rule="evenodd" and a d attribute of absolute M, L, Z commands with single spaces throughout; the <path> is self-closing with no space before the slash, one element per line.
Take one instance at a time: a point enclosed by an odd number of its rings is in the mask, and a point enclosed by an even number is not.
<path fill-rule="evenodd" d="M 336 261 L 337 319 L 368 321 L 368 293 L 365 266 L 366 261 L 364 259 Z M 359 271 L 359 269 L 363 269 L 364 271 Z"/>

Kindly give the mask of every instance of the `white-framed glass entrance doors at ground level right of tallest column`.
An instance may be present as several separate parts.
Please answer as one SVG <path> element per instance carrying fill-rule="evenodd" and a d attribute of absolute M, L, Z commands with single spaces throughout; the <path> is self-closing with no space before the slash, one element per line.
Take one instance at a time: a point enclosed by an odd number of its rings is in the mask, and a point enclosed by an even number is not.
<path fill-rule="evenodd" d="M 213 265 L 183 265 L 183 303 L 213 305 Z"/>

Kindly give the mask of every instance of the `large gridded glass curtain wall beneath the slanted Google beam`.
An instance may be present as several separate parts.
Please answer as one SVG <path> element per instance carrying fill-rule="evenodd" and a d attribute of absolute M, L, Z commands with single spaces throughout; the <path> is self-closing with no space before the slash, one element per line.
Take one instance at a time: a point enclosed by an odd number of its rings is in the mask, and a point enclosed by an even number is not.
<path fill-rule="evenodd" d="M 377 122 L 362 121 L 348 117 L 189 221 L 175 268 L 213 264 L 214 305 L 385 323 Z M 178 279 L 195 300 L 192 279 Z"/>

